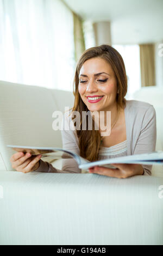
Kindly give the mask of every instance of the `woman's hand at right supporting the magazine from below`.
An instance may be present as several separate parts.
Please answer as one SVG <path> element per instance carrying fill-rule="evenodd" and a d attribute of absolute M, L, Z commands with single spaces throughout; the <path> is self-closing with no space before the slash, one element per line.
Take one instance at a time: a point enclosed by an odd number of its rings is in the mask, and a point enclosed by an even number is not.
<path fill-rule="evenodd" d="M 119 179 L 124 179 L 135 175 L 143 175 L 143 167 L 141 166 L 141 164 L 116 163 L 111 165 L 115 166 L 117 169 L 95 166 L 89 168 L 89 173 L 97 173 Z"/>

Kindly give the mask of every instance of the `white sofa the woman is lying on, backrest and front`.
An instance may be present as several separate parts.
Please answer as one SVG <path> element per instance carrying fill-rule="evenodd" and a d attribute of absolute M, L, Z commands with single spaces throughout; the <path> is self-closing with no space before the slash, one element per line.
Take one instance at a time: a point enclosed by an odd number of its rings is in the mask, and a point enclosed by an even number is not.
<path fill-rule="evenodd" d="M 7 144 L 61 147 L 52 113 L 73 100 L 70 92 L 0 82 L 0 244 L 162 245 L 162 177 L 12 169 Z"/>

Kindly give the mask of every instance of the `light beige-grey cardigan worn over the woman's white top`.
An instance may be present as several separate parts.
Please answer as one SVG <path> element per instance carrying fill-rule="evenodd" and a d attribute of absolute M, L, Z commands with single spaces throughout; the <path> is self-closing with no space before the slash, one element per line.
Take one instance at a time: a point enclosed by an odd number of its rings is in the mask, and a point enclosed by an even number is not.
<path fill-rule="evenodd" d="M 124 109 L 126 119 L 127 155 L 143 154 L 155 151 L 156 113 L 152 105 L 142 101 L 127 100 Z M 65 117 L 64 121 L 68 121 Z M 63 148 L 79 153 L 79 142 L 76 131 L 63 130 Z M 54 142 L 55 146 L 55 142 Z M 152 166 L 143 165 L 144 175 L 151 175 Z M 36 172 L 81 173 L 73 159 L 63 160 L 62 169 L 55 169 L 52 164 L 40 160 Z"/>

